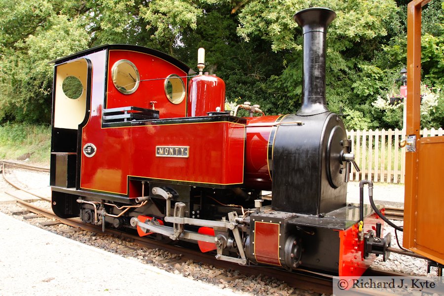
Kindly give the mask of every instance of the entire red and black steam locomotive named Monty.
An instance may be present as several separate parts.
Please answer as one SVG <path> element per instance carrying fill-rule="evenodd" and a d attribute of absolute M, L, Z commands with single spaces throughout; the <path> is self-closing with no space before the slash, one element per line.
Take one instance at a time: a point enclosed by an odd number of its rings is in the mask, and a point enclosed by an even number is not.
<path fill-rule="evenodd" d="M 201 50 L 198 74 L 130 45 L 56 60 L 54 213 L 193 242 L 238 264 L 360 276 L 376 255 L 388 255 L 390 237 L 380 237 L 383 222 L 370 206 L 346 204 L 354 155 L 341 115 L 325 101 L 326 31 L 335 16 L 317 7 L 294 16 L 304 36 L 295 114 L 253 116 L 262 112 L 248 103 L 236 109 L 249 117 L 225 112 L 225 84 L 203 73 Z"/>

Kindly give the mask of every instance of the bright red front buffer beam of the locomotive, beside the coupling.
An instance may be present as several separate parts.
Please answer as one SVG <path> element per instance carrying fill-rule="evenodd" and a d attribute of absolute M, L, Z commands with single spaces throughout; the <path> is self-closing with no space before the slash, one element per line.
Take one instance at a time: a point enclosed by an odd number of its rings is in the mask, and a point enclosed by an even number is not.
<path fill-rule="evenodd" d="M 384 214 L 384 209 L 381 210 Z M 376 223 L 381 223 L 381 233 L 384 230 L 384 221 L 376 214 L 369 215 L 364 218 L 364 233 L 376 227 Z M 358 238 L 358 223 L 346 230 L 339 231 L 340 248 L 339 248 L 339 276 L 359 278 L 371 263 L 376 259 L 376 255 L 364 258 L 364 241 Z"/>

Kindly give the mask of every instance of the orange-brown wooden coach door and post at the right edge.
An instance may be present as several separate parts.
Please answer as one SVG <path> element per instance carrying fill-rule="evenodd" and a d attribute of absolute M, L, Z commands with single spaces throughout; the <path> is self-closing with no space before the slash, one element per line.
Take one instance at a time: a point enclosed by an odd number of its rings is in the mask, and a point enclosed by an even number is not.
<path fill-rule="evenodd" d="M 421 7 L 407 6 L 407 146 L 404 247 L 444 264 L 444 136 L 420 129 Z"/>

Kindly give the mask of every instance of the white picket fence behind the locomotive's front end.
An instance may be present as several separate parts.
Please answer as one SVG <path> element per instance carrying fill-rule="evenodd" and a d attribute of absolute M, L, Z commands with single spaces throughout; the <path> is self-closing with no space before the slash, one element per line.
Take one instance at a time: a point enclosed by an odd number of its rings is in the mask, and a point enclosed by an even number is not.
<path fill-rule="evenodd" d="M 443 136 L 443 128 L 420 131 L 421 137 Z M 404 183 L 406 175 L 406 148 L 398 143 L 406 137 L 405 130 L 347 131 L 352 152 L 361 172 L 352 166 L 350 180 L 363 179 L 373 182 Z"/>

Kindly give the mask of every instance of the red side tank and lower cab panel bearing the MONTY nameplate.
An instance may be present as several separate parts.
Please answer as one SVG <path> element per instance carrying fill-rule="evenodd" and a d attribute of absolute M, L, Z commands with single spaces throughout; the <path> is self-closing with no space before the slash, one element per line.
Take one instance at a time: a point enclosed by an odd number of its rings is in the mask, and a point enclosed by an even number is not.
<path fill-rule="evenodd" d="M 127 194 L 128 176 L 242 184 L 244 139 L 245 126 L 231 122 L 102 129 L 99 113 L 83 128 L 82 147 L 93 143 L 97 152 L 91 158 L 82 153 L 80 187 Z M 158 157 L 156 146 L 188 146 L 189 157 Z"/>

